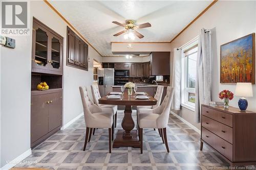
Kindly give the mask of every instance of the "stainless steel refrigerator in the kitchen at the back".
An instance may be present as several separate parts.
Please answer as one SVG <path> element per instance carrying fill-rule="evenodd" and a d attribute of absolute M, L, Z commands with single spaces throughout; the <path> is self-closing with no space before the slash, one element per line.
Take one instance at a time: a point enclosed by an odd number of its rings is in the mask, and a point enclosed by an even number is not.
<path fill-rule="evenodd" d="M 101 96 L 112 91 L 112 86 L 114 86 L 114 68 L 98 68 L 98 86 Z"/>

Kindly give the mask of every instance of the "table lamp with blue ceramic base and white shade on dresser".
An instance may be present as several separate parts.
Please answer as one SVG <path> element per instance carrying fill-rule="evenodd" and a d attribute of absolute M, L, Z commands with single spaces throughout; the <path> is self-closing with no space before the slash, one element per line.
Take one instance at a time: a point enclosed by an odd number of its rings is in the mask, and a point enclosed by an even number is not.
<path fill-rule="evenodd" d="M 253 96 L 251 83 L 237 83 L 234 95 L 242 97 L 238 101 L 238 107 L 242 112 L 245 111 L 247 109 L 248 102 L 244 97 Z"/>

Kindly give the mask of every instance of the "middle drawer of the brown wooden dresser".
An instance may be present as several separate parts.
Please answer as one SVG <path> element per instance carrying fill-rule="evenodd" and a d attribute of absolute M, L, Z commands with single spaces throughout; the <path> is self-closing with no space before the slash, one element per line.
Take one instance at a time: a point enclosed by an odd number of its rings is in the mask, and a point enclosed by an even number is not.
<path fill-rule="evenodd" d="M 233 143 L 233 128 L 223 125 L 211 118 L 202 116 L 202 127 L 220 136 L 229 143 Z"/>

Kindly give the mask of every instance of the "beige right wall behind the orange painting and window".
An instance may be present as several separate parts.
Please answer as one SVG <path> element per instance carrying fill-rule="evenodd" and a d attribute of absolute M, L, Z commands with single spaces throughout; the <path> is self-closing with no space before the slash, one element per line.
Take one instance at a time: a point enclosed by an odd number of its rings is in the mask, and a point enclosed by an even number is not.
<path fill-rule="evenodd" d="M 195 38 L 201 28 L 213 29 L 212 100 L 219 101 L 219 91 L 229 89 L 234 92 L 236 87 L 235 84 L 220 83 L 220 45 L 256 32 L 256 2 L 218 1 L 170 44 L 172 51 L 174 47 L 180 47 Z M 254 97 L 247 99 L 249 103 L 248 110 L 256 111 L 256 85 L 253 85 L 253 92 Z M 230 102 L 230 105 L 238 107 L 238 99 L 239 97 L 236 96 Z M 178 114 L 189 123 L 196 125 L 193 111 L 182 108 Z M 196 125 L 196 127 L 199 127 L 199 125 Z"/>

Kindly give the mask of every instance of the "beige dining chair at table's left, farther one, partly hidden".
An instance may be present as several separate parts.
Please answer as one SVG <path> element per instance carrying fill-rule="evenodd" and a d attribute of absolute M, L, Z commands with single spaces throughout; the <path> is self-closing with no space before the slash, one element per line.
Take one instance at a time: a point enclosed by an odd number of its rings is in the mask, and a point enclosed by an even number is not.
<path fill-rule="evenodd" d="M 113 111 L 113 115 L 115 116 L 115 120 L 114 120 L 114 126 L 116 128 L 116 124 L 117 124 L 117 106 L 116 105 L 101 105 L 99 104 L 99 99 L 101 98 L 100 93 L 99 93 L 99 86 L 98 85 L 91 85 L 91 90 L 92 90 L 92 94 L 93 94 L 93 101 L 94 104 L 96 104 L 97 106 L 99 106 L 101 109 L 105 109 L 105 108 L 111 108 Z M 93 134 L 95 132 L 95 129 L 93 130 Z"/>

